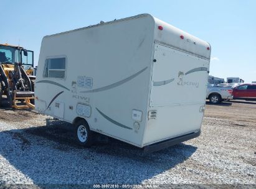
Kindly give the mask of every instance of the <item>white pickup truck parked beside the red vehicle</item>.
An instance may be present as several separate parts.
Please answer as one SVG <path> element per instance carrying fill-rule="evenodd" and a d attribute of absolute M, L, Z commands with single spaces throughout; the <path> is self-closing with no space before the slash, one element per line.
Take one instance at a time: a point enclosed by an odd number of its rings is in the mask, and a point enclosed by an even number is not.
<path fill-rule="evenodd" d="M 219 104 L 221 101 L 233 99 L 232 87 L 208 86 L 206 99 L 212 104 Z"/>

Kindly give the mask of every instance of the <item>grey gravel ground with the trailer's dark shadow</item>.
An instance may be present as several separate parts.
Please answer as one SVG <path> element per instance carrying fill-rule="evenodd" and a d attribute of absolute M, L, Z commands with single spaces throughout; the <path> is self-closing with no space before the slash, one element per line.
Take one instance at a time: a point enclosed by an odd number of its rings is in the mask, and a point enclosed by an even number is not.
<path fill-rule="evenodd" d="M 256 102 L 207 104 L 200 137 L 148 155 L 115 139 L 78 147 L 69 124 L 24 110 L 0 109 L 0 141 L 0 185 L 256 184 Z"/>

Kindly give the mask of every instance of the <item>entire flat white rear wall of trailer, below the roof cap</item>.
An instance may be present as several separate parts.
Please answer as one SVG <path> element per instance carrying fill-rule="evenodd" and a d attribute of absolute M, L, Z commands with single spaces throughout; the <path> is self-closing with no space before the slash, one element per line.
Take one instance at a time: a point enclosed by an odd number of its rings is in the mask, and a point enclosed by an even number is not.
<path fill-rule="evenodd" d="M 148 115 L 143 145 L 174 138 L 179 142 L 199 132 L 206 101 L 209 60 L 159 44 L 154 59 L 149 103 L 149 113 L 154 114 Z"/>

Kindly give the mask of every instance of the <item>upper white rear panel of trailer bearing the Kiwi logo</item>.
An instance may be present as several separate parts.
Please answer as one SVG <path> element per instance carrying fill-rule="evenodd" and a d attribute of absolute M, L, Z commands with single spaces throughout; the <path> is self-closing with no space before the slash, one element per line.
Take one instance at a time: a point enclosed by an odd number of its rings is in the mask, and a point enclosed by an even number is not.
<path fill-rule="evenodd" d="M 209 60 L 164 45 L 154 45 L 149 106 L 204 103 Z"/>

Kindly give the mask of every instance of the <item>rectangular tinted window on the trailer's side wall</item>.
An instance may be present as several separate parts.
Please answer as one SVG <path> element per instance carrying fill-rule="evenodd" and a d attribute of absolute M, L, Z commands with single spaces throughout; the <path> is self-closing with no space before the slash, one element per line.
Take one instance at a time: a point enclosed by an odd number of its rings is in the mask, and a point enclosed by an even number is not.
<path fill-rule="evenodd" d="M 66 58 L 46 58 L 44 66 L 45 78 L 64 78 L 66 69 Z"/>

